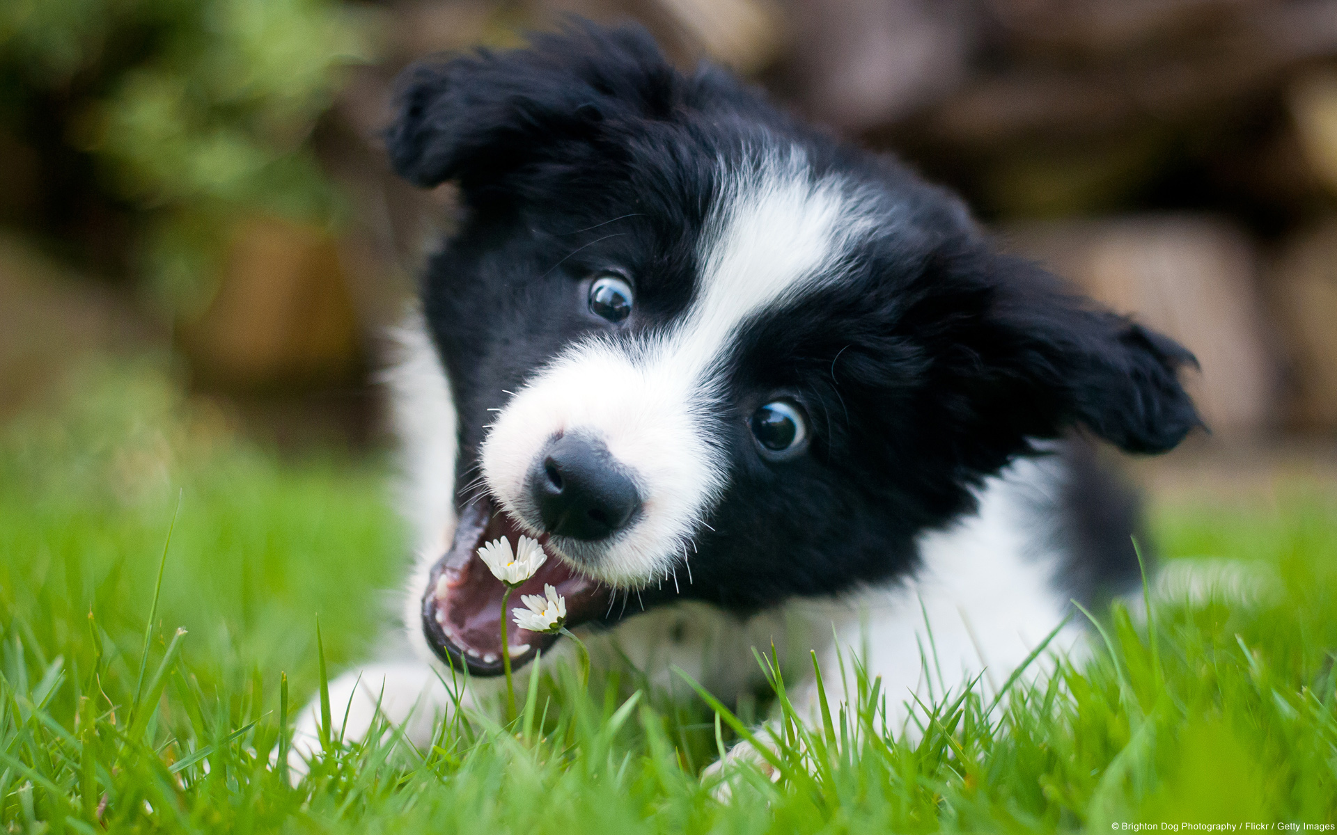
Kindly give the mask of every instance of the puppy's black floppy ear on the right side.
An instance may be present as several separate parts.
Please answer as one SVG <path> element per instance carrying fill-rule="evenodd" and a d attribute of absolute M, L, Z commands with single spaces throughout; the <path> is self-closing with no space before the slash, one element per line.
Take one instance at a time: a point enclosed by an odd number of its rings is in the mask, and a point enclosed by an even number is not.
<path fill-rule="evenodd" d="M 1027 262 L 999 258 L 988 325 L 971 346 L 988 382 L 984 421 L 1055 437 L 1084 426 L 1132 453 L 1173 449 L 1202 426 L 1179 370 L 1197 367 L 1174 339 L 1064 291 Z M 973 339 L 972 339 L 973 341 Z"/>

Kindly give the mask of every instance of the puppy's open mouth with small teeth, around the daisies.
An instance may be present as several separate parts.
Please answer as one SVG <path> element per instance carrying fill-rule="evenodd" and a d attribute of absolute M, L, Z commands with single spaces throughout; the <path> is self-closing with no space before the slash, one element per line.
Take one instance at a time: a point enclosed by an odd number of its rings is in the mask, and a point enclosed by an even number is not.
<path fill-rule="evenodd" d="M 515 625 L 505 612 L 509 647 L 501 645 L 501 596 L 505 587 L 492 576 L 479 557 L 479 548 L 496 538 L 519 545 L 523 530 L 489 498 L 480 498 L 460 510 L 451 550 L 428 577 L 422 596 L 422 629 L 432 649 L 456 669 L 468 668 L 476 676 L 496 676 L 503 671 L 501 653 L 508 652 L 517 669 L 558 640 L 555 635 L 529 632 Z M 541 537 L 548 558 L 533 577 L 511 592 L 507 608 L 521 607 L 521 595 L 543 595 L 552 585 L 567 599 L 567 625 L 575 627 L 603 615 L 610 589 L 567 565 Z"/>

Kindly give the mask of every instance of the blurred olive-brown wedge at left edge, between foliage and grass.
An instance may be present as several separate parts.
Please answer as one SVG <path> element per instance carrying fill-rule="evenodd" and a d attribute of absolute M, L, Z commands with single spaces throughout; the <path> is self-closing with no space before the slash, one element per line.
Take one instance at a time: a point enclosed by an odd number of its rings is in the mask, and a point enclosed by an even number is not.
<path fill-rule="evenodd" d="M 122 298 L 41 255 L 0 236 L 0 415 L 90 354 L 162 345 Z"/>

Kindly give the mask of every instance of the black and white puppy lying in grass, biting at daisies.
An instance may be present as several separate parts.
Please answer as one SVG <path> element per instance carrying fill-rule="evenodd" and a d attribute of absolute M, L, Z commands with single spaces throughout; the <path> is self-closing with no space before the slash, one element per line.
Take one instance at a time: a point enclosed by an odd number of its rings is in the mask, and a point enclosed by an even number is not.
<path fill-rule="evenodd" d="M 551 655 L 501 644 L 477 556 L 499 537 L 548 554 L 520 592 L 556 587 L 570 627 L 725 697 L 773 641 L 860 656 L 893 703 L 996 687 L 1072 599 L 1136 578 L 1132 502 L 1072 438 L 1175 446 L 1193 357 L 1000 254 L 953 195 L 635 27 L 400 91 L 394 170 L 456 183 L 463 216 L 394 378 L 420 659 L 334 684 L 350 735 L 380 703 L 424 741 L 439 675 L 495 692 L 503 653 Z"/>

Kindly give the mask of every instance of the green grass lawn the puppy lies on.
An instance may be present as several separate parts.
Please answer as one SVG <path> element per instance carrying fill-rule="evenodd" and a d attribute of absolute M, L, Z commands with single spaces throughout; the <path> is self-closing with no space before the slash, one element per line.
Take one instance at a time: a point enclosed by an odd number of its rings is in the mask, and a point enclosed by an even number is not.
<path fill-rule="evenodd" d="M 729 804 L 697 776 L 733 736 L 729 716 L 717 725 L 687 688 L 646 689 L 635 671 L 596 673 L 587 691 L 548 671 L 519 693 L 515 727 L 457 717 L 427 752 L 393 733 L 332 743 L 289 787 L 269 752 L 317 692 L 316 616 L 336 671 L 370 652 L 392 604 L 404 541 L 386 468 L 261 454 L 151 366 L 92 369 L 75 390 L 0 448 L 5 831 L 1031 832 L 1337 816 L 1337 502 L 1316 493 L 1157 517 L 1165 553 L 1265 562 L 1281 593 L 1158 607 L 1154 635 L 1102 613 L 1104 648 L 1062 687 L 1015 692 L 995 724 L 965 695 L 913 744 L 885 732 L 886 696 L 864 680 L 825 729 L 789 724 L 786 779 L 749 775 Z"/>

